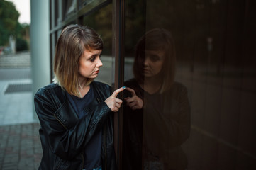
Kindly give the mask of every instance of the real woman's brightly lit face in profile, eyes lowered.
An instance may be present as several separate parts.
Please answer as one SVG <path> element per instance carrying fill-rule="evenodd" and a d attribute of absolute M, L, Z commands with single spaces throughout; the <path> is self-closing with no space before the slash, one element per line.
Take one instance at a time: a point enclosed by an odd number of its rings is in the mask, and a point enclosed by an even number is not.
<path fill-rule="evenodd" d="M 79 59 L 79 75 L 85 79 L 95 79 L 103 65 L 100 59 L 102 50 L 84 50 Z"/>

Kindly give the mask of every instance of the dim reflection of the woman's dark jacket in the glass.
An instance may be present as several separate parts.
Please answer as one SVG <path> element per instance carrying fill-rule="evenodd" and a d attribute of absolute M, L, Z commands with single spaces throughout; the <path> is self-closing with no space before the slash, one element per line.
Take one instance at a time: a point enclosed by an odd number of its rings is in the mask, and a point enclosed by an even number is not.
<path fill-rule="evenodd" d="M 142 109 L 123 105 L 123 170 L 187 169 L 187 156 L 181 145 L 190 135 L 190 104 L 187 88 L 174 82 L 172 89 L 162 94 L 148 94 L 138 81 L 124 84 L 143 98 Z M 130 96 L 126 91 L 123 98 Z M 160 163 L 160 164 L 159 164 Z"/>

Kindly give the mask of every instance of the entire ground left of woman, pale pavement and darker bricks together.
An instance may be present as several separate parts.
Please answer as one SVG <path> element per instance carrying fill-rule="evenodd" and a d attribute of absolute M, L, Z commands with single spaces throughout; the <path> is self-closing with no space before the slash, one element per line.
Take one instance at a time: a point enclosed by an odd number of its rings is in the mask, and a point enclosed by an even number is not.
<path fill-rule="evenodd" d="M 0 169 L 38 169 L 39 123 L 33 116 L 31 70 L 0 69 Z M 24 88 L 26 87 L 26 88 Z"/>

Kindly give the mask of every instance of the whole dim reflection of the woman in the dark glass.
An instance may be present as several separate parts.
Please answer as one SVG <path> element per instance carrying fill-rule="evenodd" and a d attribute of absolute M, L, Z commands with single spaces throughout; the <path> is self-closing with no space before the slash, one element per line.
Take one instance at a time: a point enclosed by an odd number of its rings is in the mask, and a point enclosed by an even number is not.
<path fill-rule="evenodd" d="M 180 145 L 189 137 L 187 89 L 174 82 L 175 50 L 169 31 L 156 28 L 138 42 L 134 79 L 123 119 L 123 169 L 186 169 Z"/>

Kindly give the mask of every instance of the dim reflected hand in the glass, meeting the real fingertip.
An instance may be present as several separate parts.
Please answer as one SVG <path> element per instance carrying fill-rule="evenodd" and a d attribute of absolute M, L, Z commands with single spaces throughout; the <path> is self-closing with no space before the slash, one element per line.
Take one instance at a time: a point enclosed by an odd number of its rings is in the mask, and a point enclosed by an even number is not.
<path fill-rule="evenodd" d="M 135 91 L 129 87 L 126 87 L 126 90 L 132 94 L 132 97 L 125 98 L 127 105 L 133 110 L 143 108 L 143 100 L 136 95 Z"/>

